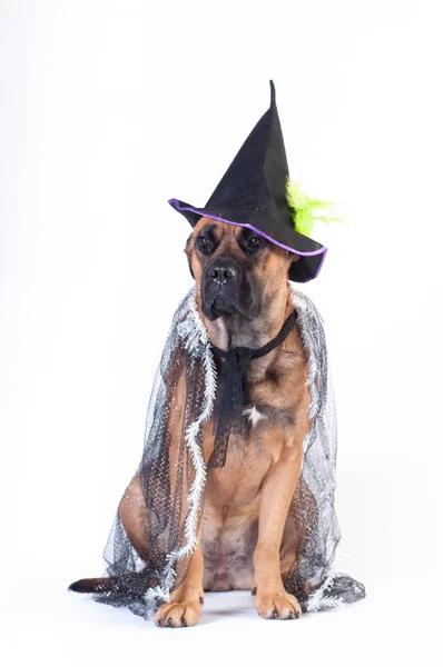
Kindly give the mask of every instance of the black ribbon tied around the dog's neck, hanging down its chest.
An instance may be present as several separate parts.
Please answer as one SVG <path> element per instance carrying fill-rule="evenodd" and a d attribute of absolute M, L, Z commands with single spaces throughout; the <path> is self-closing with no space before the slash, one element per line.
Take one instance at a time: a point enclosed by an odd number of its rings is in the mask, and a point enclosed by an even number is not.
<path fill-rule="evenodd" d="M 229 436 L 239 430 L 245 407 L 253 407 L 246 378 L 250 361 L 268 355 L 278 347 L 287 338 L 296 319 L 297 313 L 293 310 L 277 336 L 258 349 L 236 347 L 226 351 L 211 346 L 213 354 L 222 357 L 223 364 L 218 374 L 216 435 L 209 468 L 225 466 Z"/>

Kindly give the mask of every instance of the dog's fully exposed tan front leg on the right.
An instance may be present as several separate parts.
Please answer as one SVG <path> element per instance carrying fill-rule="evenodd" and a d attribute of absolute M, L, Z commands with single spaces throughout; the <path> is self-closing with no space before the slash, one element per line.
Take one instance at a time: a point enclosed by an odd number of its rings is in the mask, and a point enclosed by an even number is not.
<path fill-rule="evenodd" d="M 283 586 L 279 551 L 302 459 L 303 438 L 285 442 L 263 481 L 253 595 L 258 614 L 264 618 L 289 619 L 301 615 L 298 600 Z"/>

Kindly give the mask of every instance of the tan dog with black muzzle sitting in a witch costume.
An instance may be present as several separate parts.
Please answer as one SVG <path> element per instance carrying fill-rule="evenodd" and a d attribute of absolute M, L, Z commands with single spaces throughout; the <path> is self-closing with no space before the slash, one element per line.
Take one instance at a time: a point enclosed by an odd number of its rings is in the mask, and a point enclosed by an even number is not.
<path fill-rule="evenodd" d="M 206 217 L 195 226 L 185 252 L 213 346 L 256 349 L 277 336 L 293 312 L 288 270 L 298 260 L 296 253 L 248 228 Z M 216 362 L 219 368 L 223 361 Z M 307 365 L 296 326 L 279 346 L 250 361 L 253 407 L 244 410 L 242 429 L 230 435 L 225 466 L 208 468 L 198 542 L 185 579 L 155 615 L 158 626 L 194 626 L 205 591 L 233 589 L 250 589 L 263 618 L 299 618 L 299 601 L 284 581 L 303 539 L 288 512 L 294 495 L 302 492 L 303 442 L 309 430 Z M 181 391 L 178 386 L 177 405 Z M 210 419 L 203 434 L 206 461 L 214 450 L 214 431 Z M 119 517 L 144 558 L 148 544 L 138 475 L 120 501 Z M 97 581 L 83 579 L 70 588 L 92 591 Z"/>

